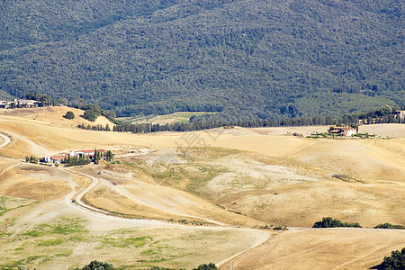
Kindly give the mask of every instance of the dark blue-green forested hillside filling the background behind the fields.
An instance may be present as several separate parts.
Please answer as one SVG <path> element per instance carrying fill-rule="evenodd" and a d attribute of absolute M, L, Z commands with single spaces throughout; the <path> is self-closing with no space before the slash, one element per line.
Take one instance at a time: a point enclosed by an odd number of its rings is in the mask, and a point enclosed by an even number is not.
<path fill-rule="evenodd" d="M 405 100 L 401 0 L 5 0 L 0 91 L 118 116 L 278 118 Z"/>

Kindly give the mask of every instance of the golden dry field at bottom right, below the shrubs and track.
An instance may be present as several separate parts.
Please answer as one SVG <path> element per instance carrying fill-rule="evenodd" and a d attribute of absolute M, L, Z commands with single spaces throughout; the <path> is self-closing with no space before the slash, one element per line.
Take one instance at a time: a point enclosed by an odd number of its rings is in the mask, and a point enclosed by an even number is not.
<path fill-rule="evenodd" d="M 368 269 L 404 243 L 403 230 L 291 229 L 220 269 Z"/>

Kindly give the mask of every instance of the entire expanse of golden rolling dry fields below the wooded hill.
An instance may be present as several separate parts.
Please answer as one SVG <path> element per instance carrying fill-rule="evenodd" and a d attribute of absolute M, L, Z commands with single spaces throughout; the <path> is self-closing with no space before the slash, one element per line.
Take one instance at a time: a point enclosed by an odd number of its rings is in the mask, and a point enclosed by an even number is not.
<path fill-rule="evenodd" d="M 328 127 L 130 134 L 76 129 L 67 110 L 0 112 L 12 137 L 0 148 L 2 269 L 93 259 L 128 269 L 367 269 L 405 243 L 402 230 L 304 229 L 326 216 L 405 224 L 404 125 L 360 127 L 385 139 L 287 135 Z M 84 148 L 113 149 L 121 164 L 20 161 Z M 82 192 L 87 208 L 72 202 Z M 255 229 L 265 224 L 289 229 Z"/>

